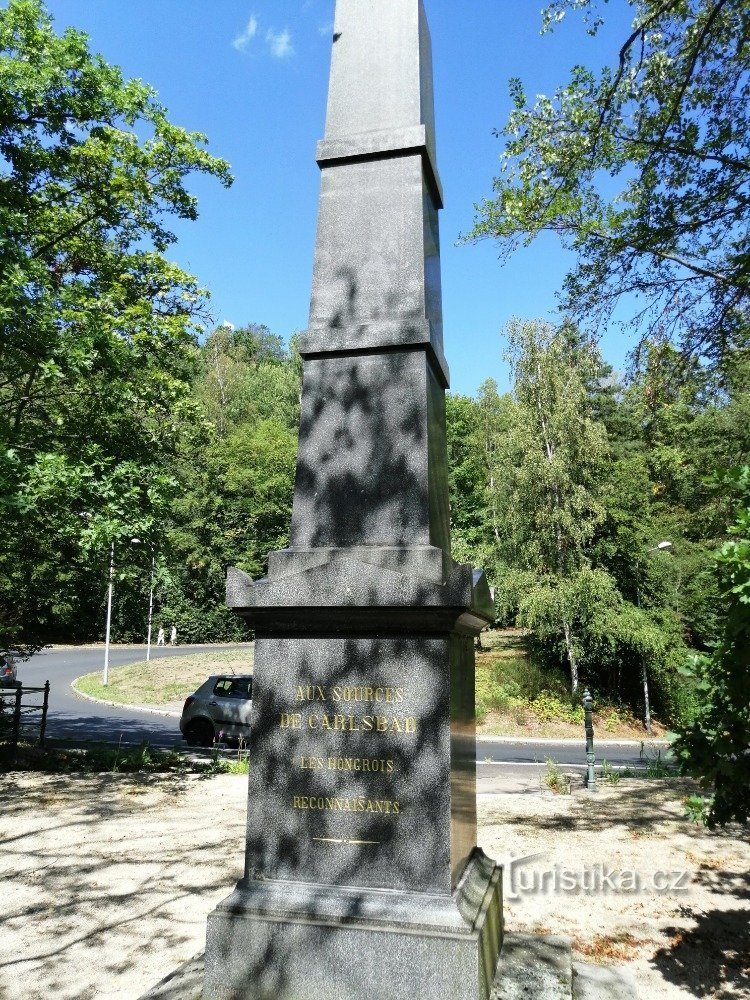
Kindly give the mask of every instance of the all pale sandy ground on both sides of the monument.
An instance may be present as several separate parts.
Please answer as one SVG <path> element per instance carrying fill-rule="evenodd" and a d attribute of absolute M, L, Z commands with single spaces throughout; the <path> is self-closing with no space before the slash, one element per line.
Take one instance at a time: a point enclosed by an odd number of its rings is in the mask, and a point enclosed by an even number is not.
<path fill-rule="evenodd" d="M 136 1000 L 200 951 L 241 874 L 246 780 L 2 776 L 0 998 Z M 530 777 L 480 796 L 480 845 L 516 859 L 506 927 L 628 964 L 642 1000 L 750 997 L 750 844 L 683 820 L 683 794 L 552 796 Z"/>

